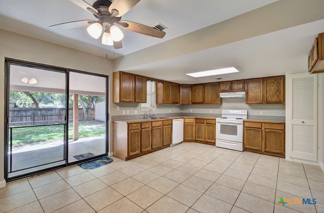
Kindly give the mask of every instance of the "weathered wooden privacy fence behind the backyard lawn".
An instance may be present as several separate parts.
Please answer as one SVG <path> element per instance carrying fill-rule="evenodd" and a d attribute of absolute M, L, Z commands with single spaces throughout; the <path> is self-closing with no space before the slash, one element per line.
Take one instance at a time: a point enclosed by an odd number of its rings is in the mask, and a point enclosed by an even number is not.
<path fill-rule="evenodd" d="M 79 108 L 79 121 L 84 120 L 83 108 Z M 95 119 L 95 110 L 91 110 Z M 73 121 L 73 109 L 69 109 L 69 122 Z M 36 125 L 65 122 L 65 108 L 10 108 L 9 125 Z"/>

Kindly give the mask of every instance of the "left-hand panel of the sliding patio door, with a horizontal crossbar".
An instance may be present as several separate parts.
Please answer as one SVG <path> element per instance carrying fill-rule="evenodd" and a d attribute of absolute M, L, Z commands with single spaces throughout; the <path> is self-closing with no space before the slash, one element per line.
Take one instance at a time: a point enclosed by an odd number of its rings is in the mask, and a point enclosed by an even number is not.
<path fill-rule="evenodd" d="M 7 63 L 8 178 L 65 164 L 66 73 Z"/>

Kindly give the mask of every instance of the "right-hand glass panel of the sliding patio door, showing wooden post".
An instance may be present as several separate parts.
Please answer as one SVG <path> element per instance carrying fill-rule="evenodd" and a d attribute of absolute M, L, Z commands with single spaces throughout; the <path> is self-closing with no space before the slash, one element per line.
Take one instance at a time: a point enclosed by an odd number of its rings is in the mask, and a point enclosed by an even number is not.
<path fill-rule="evenodd" d="M 68 162 L 106 151 L 106 77 L 69 72 Z"/>

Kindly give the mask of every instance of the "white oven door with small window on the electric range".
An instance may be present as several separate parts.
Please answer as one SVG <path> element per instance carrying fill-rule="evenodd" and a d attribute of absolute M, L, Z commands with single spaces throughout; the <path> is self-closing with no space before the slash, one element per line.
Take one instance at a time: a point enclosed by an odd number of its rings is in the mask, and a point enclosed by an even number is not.
<path fill-rule="evenodd" d="M 216 139 L 243 143 L 243 122 L 216 119 Z"/>

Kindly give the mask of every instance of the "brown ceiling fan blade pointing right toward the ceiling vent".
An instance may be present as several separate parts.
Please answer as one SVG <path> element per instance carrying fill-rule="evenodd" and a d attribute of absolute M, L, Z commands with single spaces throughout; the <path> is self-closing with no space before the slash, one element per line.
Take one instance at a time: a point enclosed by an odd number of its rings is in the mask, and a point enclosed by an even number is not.
<path fill-rule="evenodd" d="M 163 38 L 166 35 L 164 31 L 132 21 L 120 21 L 120 23 L 115 22 L 115 24 L 118 24 L 121 28 L 157 38 Z"/>

